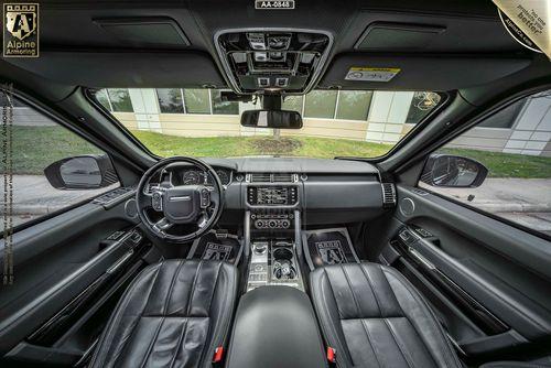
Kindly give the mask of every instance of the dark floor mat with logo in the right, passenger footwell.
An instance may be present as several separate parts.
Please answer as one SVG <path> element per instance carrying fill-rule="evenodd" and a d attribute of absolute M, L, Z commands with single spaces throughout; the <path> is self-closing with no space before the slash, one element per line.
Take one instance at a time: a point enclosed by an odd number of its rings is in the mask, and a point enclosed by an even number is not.
<path fill-rule="evenodd" d="M 345 227 L 302 231 L 302 246 L 312 271 L 322 266 L 359 262 Z"/>

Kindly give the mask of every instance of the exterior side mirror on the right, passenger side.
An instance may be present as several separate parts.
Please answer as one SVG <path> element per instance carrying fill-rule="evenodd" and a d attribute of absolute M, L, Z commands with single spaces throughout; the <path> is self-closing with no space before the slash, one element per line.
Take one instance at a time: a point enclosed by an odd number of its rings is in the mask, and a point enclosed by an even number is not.
<path fill-rule="evenodd" d="M 451 154 L 431 154 L 423 169 L 421 182 L 432 186 L 477 187 L 488 175 L 478 161 Z"/>

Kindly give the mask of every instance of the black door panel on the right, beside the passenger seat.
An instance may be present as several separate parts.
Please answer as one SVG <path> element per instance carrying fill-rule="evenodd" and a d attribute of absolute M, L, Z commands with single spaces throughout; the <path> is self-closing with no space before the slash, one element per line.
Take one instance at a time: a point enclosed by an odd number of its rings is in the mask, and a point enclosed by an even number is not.
<path fill-rule="evenodd" d="M 419 188 L 398 185 L 398 204 L 382 257 L 425 294 L 465 353 L 551 336 L 549 241 Z"/>

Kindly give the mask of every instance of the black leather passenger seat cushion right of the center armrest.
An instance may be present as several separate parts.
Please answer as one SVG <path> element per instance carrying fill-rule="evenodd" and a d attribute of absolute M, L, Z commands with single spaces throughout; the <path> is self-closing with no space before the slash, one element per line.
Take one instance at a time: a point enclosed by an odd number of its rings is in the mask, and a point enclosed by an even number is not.
<path fill-rule="evenodd" d="M 329 266 L 312 272 L 310 281 L 338 367 L 462 367 L 428 304 L 395 269 Z"/>

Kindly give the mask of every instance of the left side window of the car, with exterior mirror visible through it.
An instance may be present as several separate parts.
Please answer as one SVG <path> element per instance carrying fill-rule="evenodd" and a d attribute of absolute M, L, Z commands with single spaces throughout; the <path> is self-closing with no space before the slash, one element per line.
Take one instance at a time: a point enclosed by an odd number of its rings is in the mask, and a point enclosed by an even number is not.
<path fill-rule="evenodd" d="M 11 165 L 1 163 L 1 185 L 4 193 L 6 184 L 12 188 L 11 205 L 0 198 L 3 227 L 17 227 L 119 186 L 105 152 L 25 102 L 12 100 L 9 119 L 8 102 L 1 97 L 2 131 L 11 131 L 11 149 L 2 137 L 2 158 L 11 158 Z"/>

